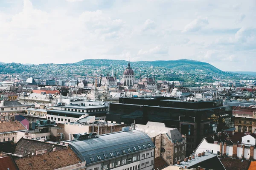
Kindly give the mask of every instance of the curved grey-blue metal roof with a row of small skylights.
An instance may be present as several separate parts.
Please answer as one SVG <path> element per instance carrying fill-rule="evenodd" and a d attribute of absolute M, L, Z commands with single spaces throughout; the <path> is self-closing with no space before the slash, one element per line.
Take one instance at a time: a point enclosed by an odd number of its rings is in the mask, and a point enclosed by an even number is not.
<path fill-rule="evenodd" d="M 139 130 L 130 130 L 105 134 L 92 139 L 71 141 L 69 146 L 81 160 L 86 161 L 87 164 L 92 164 L 154 148 L 154 143 L 145 133 Z M 133 147 L 136 147 L 136 150 Z M 131 149 L 131 152 L 128 152 L 128 148 Z M 125 150 L 125 153 L 122 150 Z M 119 155 L 116 151 L 119 151 Z M 110 153 L 113 153 L 113 156 Z M 107 154 L 108 157 L 105 158 L 104 154 Z M 99 160 L 97 156 L 100 156 L 101 159 Z M 93 158 L 94 161 L 90 158 Z"/>

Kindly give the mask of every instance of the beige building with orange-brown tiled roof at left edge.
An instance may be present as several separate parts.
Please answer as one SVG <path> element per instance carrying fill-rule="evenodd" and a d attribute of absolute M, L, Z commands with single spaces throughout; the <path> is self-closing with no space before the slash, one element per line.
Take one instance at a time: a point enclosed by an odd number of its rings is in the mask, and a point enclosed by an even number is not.
<path fill-rule="evenodd" d="M 17 142 L 18 132 L 25 132 L 24 127 L 19 121 L 15 122 L 0 122 L 0 142 L 13 141 Z"/>

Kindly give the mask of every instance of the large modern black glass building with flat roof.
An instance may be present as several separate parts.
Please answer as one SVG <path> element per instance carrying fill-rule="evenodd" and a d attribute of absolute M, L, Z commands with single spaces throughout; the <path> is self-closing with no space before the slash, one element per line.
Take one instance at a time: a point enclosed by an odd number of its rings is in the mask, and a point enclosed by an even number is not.
<path fill-rule="evenodd" d="M 119 98 L 110 104 L 106 120 L 145 125 L 163 122 L 186 135 L 187 154 L 191 154 L 204 137 L 234 128 L 232 107 L 223 100 L 184 102 L 165 98 Z"/>

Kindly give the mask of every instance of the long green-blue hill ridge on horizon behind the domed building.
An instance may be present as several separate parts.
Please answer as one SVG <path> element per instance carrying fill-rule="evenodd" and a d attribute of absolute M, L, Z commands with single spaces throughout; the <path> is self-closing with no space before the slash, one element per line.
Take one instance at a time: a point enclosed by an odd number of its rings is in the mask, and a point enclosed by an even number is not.
<path fill-rule="evenodd" d="M 175 71 L 192 71 L 192 72 L 209 72 L 209 73 L 218 73 L 221 74 L 223 71 L 210 65 L 207 62 L 200 62 L 189 59 L 179 59 L 179 60 L 156 60 L 156 61 L 137 61 L 130 62 L 131 67 L 136 65 L 148 65 L 148 67 L 164 67 L 170 68 Z M 80 62 L 74 64 L 78 65 L 95 65 L 95 66 L 109 66 L 109 65 L 127 65 L 128 61 L 125 60 L 113 60 L 113 59 L 84 59 Z"/>

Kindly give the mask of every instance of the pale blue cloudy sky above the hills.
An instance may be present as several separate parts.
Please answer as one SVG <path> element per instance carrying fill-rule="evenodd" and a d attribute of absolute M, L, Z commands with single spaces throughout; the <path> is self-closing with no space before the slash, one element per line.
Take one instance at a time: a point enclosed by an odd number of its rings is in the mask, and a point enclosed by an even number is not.
<path fill-rule="evenodd" d="M 0 62 L 129 58 L 256 71 L 256 0 L 0 0 Z"/>

